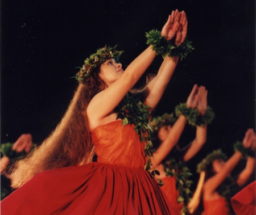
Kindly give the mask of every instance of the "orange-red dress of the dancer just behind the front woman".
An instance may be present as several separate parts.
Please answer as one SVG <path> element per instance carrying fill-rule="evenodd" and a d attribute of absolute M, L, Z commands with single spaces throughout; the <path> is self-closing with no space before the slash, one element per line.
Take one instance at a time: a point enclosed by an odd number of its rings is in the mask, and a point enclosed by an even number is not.
<path fill-rule="evenodd" d="M 177 214 L 181 214 L 182 203 L 177 203 L 177 198 L 179 197 L 179 191 L 176 189 L 176 180 L 174 177 L 166 176 L 161 178 L 163 181 L 163 191 L 166 193 L 168 200 L 173 206 Z"/>

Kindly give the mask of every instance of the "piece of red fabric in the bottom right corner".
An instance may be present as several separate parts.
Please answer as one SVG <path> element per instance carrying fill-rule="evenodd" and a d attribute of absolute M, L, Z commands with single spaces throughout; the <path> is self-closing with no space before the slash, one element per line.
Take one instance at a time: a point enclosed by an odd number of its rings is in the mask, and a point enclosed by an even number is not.
<path fill-rule="evenodd" d="M 256 214 L 256 181 L 250 183 L 231 199 L 232 208 L 237 215 Z"/>

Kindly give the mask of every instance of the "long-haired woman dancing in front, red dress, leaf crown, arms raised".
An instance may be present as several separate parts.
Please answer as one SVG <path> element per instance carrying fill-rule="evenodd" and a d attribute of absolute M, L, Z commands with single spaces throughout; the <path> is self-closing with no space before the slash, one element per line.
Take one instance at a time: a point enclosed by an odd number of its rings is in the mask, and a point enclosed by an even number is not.
<path fill-rule="evenodd" d="M 178 51 L 183 47 L 184 11 L 172 11 L 157 36 L 161 45 L 154 43 L 155 33 L 147 35 L 151 45 L 125 71 L 115 47 L 98 49 L 85 60 L 63 120 L 39 149 L 18 163 L 12 179 L 13 187 L 21 187 L 2 201 L 2 214 L 175 214 L 151 177 L 145 127 L 148 111 L 176 68 L 179 53 L 168 50 L 170 45 Z M 159 50 L 166 57 L 156 77 L 139 94 L 127 94 Z M 94 150 L 97 162 L 92 162 Z M 145 163 L 151 175 L 143 169 Z"/>

